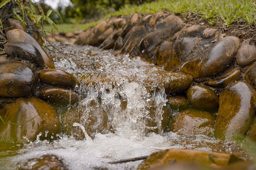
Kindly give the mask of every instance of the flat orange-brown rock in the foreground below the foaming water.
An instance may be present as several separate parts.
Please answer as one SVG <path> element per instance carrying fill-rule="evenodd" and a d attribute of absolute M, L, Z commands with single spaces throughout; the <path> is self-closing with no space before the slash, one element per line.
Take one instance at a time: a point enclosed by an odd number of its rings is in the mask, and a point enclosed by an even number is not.
<path fill-rule="evenodd" d="M 158 169 L 160 166 L 175 162 L 190 162 L 216 167 L 228 165 L 240 160 L 240 158 L 233 154 L 188 149 L 167 149 L 152 153 L 138 166 L 137 170 Z"/>

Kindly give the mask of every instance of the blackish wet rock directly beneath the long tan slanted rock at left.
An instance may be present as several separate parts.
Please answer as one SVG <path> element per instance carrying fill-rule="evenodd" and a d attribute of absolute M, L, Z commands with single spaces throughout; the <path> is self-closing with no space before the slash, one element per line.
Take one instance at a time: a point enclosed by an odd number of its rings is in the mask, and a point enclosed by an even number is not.
<path fill-rule="evenodd" d="M 44 66 L 44 59 L 34 45 L 24 42 L 6 43 L 4 50 L 9 57 L 18 57 L 38 66 Z"/>

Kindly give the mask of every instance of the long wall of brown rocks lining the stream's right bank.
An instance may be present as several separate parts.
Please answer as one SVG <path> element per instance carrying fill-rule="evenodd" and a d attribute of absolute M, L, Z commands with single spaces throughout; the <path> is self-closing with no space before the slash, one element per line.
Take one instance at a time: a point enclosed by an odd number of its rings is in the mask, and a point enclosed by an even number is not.
<path fill-rule="evenodd" d="M 77 35 L 75 44 L 130 53 L 162 66 L 165 71 L 152 70 L 145 84 L 149 91 L 165 88 L 164 129 L 224 141 L 246 135 L 256 140 L 256 46 L 250 39 L 158 12 L 101 21 Z M 173 109 L 177 115 L 171 115 Z"/>

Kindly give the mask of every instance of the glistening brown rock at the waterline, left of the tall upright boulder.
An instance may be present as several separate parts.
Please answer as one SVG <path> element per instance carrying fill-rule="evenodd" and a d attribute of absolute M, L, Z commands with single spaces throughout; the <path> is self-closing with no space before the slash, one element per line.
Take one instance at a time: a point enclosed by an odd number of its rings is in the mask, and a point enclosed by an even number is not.
<path fill-rule="evenodd" d="M 214 116 L 202 110 L 180 111 L 171 122 L 171 131 L 179 135 L 206 135 L 214 137 Z"/>

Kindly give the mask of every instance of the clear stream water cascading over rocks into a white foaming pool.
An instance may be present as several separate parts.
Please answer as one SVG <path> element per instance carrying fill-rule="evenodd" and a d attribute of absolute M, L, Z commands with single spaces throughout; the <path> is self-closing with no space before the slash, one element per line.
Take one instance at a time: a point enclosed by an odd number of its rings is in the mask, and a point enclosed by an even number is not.
<path fill-rule="evenodd" d="M 85 139 L 60 134 L 58 140 L 49 142 L 40 141 L 38 134 L 34 142 L 10 147 L 8 154 L 6 150 L 0 151 L 0 169 L 32 166 L 33 158 L 53 154 L 70 170 L 134 170 L 142 160 L 122 164 L 108 162 L 148 156 L 170 148 L 234 153 L 250 158 L 234 143 L 204 135 L 163 133 L 161 119 L 166 94 L 161 88 L 148 92 L 144 84 L 149 72 L 162 68 L 140 57 L 113 55 L 95 47 L 66 43 L 55 46 L 65 55 L 58 51 L 51 53 L 54 64 L 78 78 L 76 90 L 80 101 L 78 106 L 59 108 L 58 112 L 74 115 L 76 119 L 70 128 L 80 128 Z M 90 83 L 88 77 L 93 77 Z"/>

